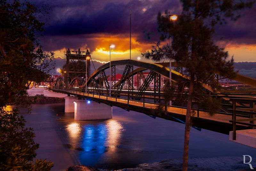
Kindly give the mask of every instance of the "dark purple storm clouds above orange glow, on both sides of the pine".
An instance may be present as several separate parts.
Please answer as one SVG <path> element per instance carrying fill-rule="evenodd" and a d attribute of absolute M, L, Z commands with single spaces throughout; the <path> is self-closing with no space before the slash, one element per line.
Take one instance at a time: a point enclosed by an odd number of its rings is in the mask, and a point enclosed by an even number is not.
<path fill-rule="evenodd" d="M 132 34 L 140 43 L 158 40 L 158 12 L 171 10 L 179 14 L 182 6 L 179 0 L 30 0 L 37 6 L 49 4 L 50 19 L 46 20 L 42 44 L 47 51 L 62 48 L 77 49 L 90 44 L 94 49 L 97 42 L 90 36 L 96 34 L 129 36 L 129 11 L 132 7 Z M 146 10 L 143 11 L 143 8 Z M 224 37 L 226 43 L 256 44 L 256 5 L 241 12 L 236 22 L 216 27 L 216 39 Z M 153 32 L 151 40 L 143 33 Z"/>

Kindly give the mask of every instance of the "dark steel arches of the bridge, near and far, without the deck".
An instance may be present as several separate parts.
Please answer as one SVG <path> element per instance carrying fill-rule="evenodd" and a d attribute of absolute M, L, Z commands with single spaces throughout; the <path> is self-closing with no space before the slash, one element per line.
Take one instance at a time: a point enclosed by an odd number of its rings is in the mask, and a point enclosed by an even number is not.
<path fill-rule="evenodd" d="M 122 78 L 119 82 L 115 82 L 115 76 L 116 76 L 116 66 L 123 65 L 125 66 L 124 68 L 124 73 L 122 75 Z M 135 70 L 133 70 L 133 67 L 138 67 Z M 133 89 L 134 87 L 132 86 L 132 76 L 138 74 L 137 78 L 138 81 L 140 82 L 141 80 L 143 81 L 144 84 L 138 85 L 140 91 L 144 91 L 145 89 L 150 89 L 149 83 L 150 81 L 153 81 L 154 78 L 156 78 L 156 86 L 158 86 L 158 80 L 157 78 L 160 76 L 164 76 L 166 79 L 169 79 L 169 72 L 170 69 L 167 68 L 169 66 L 169 62 L 165 63 L 148 63 L 148 62 L 141 62 L 141 61 L 136 61 L 136 60 L 117 60 L 117 61 L 111 61 L 111 82 L 108 82 L 109 75 L 106 75 L 105 70 L 109 69 L 109 62 L 100 66 L 97 70 L 95 70 L 90 76 L 88 76 L 87 82 L 85 81 L 84 77 L 75 77 L 71 80 L 70 77 L 68 77 L 68 86 L 82 86 L 83 88 L 86 87 L 94 87 L 94 88 L 102 88 L 103 85 L 105 86 L 106 89 L 114 89 L 114 90 L 120 90 L 123 89 L 124 87 L 129 87 L 129 89 Z M 189 80 L 190 78 L 188 76 L 185 76 L 182 74 L 182 68 L 184 67 L 181 63 L 177 62 L 172 62 L 172 66 L 174 66 L 174 70 L 172 70 L 172 82 L 177 82 L 180 78 Z M 148 78 L 146 78 L 142 72 L 149 70 Z M 216 79 L 219 79 L 219 72 L 216 71 L 214 74 L 214 77 Z M 99 75 L 99 76 L 98 76 Z M 96 77 L 100 78 L 100 80 L 96 81 Z M 129 79 L 129 82 L 128 82 Z M 241 75 L 241 74 L 236 74 L 235 79 L 238 82 L 242 82 L 245 84 L 248 84 L 252 87 L 256 87 L 256 79 Z M 57 82 L 58 80 L 56 80 Z M 146 81 L 146 82 L 145 82 Z M 64 85 L 67 83 L 62 80 Z M 104 82 L 102 84 L 102 82 Z M 101 83 L 101 84 L 100 84 Z M 127 86 L 126 84 L 130 84 Z M 124 86 L 126 85 L 126 86 Z M 155 85 L 155 84 L 154 84 Z M 138 88 L 138 87 L 137 87 Z M 157 89 L 158 87 L 154 87 L 154 89 Z M 202 83 L 202 89 L 207 92 L 207 93 L 212 93 L 213 90 L 211 87 L 205 85 Z"/>

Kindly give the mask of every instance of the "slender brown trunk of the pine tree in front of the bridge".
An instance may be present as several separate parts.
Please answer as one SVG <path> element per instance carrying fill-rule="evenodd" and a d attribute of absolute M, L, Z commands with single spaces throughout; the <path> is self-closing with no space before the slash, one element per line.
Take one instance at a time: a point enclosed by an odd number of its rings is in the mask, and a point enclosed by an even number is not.
<path fill-rule="evenodd" d="M 182 171 L 188 170 L 188 144 L 189 144 L 193 88 L 194 88 L 194 75 L 193 76 L 191 75 L 190 82 L 189 82 L 189 91 L 188 91 L 188 103 L 187 103 L 187 113 L 186 113 L 186 126 L 185 126 L 185 136 L 184 136 Z"/>

